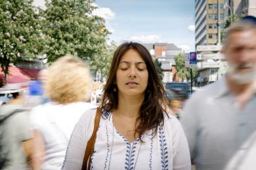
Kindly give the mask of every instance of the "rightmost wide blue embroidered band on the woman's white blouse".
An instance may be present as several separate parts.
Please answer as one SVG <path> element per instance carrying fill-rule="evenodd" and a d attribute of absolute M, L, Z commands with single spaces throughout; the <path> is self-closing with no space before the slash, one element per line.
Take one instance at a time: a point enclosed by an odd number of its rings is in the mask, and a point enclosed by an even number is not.
<path fill-rule="evenodd" d="M 160 148 L 161 148 L 161 167 L 164 170 L 168 169 L 168 151 L 167 143 L 165 139 L 165 134 L 163 131 L 163 125 L 159 126 L 159 138 L 160 138 Z"/>

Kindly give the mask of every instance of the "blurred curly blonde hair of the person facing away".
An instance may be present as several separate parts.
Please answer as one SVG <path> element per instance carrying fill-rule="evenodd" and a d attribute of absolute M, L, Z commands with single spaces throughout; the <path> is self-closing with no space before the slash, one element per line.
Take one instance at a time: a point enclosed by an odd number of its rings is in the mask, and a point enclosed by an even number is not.
<path fill-rule="evenodd" d="M 64 56 L 48 69 L 45 93 L 57 103 L 86 101 L 92 88 L 89 68 L 79 58 Z"/>

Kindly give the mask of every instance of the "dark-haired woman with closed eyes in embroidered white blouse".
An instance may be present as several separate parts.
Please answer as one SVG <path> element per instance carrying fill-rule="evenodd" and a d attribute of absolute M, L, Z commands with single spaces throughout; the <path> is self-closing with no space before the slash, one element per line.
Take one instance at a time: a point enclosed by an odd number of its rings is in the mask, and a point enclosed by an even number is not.
<path fill-rule="evenodd" d="M 184 131 L 161 107 L 166 95 L 146 48 L 121 44 L 109 73 L 90 169 L 191 169 Z M 62 169 L 81 169 L 95 115 L 81 116 Z"/>

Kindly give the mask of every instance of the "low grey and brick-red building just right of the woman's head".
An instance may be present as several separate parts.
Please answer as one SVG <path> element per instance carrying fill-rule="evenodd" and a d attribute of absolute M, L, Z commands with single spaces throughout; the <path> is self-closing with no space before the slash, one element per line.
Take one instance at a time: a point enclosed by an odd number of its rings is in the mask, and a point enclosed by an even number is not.
<path fill-rule="evenodd" d="M 173 43 L 150 43 L 144 44 L 144 46 L 146 46 L 153 58 L 160 61 L 161 69 L 163 70 L 163 82 L 179 81 L 175 56 L 182 52 L 181 48 L 178 48 Z"/>

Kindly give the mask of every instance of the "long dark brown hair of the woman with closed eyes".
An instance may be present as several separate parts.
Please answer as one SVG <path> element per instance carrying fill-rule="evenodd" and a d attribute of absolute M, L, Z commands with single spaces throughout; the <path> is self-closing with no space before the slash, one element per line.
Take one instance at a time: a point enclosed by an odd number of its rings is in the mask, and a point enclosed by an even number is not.
<path fill-rule="evenodd" d="M 158 125 L 163 124 L 163 114 L 166 112 L 165 107 L 167 106 L 165 90 L 161 84 L 152 57 L 142 44 L 125 42 L 117 48 L 112 59 L 106 85 L 104 86 L 104 95 L 100 107 L 107 111 L 117 109 L 118 90 L 114 92 L 114 88 L 117 88 L 115 84 L 116 72 L 121 57 L 130 49 L 139 52 L 148 70 L 148 86 L 145 90 L 144 101 L 140 106 L 139 117 L 137 118 L 139 124 L 135 129 L 135 134 L 139 133 L 141 140 L 142 134 L 150 129 L 153 129 L 156 135 Z"/>

